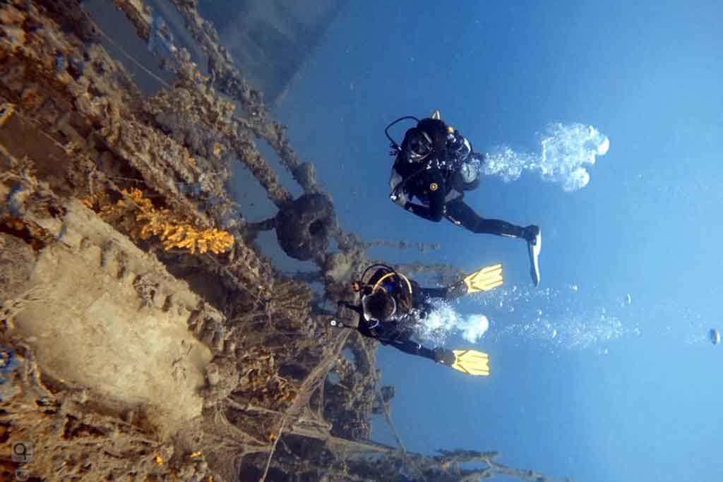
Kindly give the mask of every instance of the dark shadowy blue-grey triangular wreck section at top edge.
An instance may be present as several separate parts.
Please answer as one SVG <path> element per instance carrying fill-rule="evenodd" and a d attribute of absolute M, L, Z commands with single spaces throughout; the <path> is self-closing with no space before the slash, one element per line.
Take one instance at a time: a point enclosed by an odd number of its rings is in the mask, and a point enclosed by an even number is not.
<path fill-rule="evenodd" d="M 241 71 L 278 103 L 348 0 L 200 0 Z"/>

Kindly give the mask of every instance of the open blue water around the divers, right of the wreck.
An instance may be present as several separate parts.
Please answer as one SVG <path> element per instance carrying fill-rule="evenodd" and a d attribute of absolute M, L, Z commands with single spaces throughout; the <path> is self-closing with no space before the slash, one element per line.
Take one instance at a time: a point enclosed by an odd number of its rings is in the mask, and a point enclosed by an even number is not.
<path fill-rule="evenodd" d="M 723 480 L 723 351 L 705 340 L 723 328 L 722 19 L 718 1 L 343 10 L 277 112 L 343 228 L 442 244 L 372 253 L 391 262 L 505 264 L 504 288 L 458 306 L 486 314 L 487 334 L 447 344 L 487 351 L 492 376 L 380 348 L 407 449 L 495 449 L 509 465 L 576 481 Z M 389 201 L 384 126 L 435 108 L 477 150 L 534 152 L 555 122 L 609 137 L 583 189 L 530 173 L 485 178 L 467 197 L 485 217 L 542 226 L 539 291 L 521 241 Z M 393 444 L 382 422 L 375 438 Z"/>

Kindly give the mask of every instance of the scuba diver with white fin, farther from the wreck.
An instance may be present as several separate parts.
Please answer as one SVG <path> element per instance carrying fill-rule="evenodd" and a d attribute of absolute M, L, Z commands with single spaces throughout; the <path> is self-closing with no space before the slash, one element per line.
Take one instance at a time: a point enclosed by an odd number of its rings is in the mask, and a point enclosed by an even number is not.
<path fill-rule="evenodd" d="M 408 119 L 417 124 L 407 130 L 398 145 L 389 135 L 389 128 Z M 440 119 L 439 111 L 421 121 L 413 116 L 401 117 L 389 124 L 384 132 L 391 142 L 390 155 L 395 156 L 389 181 L 392 189 L 389 197 L 393 202 L 435 223 L 445 217 L 473 233 L 525 239 L 532 281 L 539 286 L 539 252 L 542 248 L 539 226 L 522 227 L 503 220 L 485 219 L 463 201 L 465 191 L 479 186 L 484 154 L 474 152 L 468 139 Z M 422 204 L 411 202 L 414 197 Z"/>

